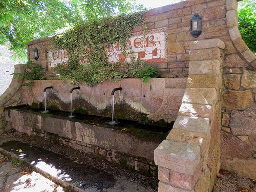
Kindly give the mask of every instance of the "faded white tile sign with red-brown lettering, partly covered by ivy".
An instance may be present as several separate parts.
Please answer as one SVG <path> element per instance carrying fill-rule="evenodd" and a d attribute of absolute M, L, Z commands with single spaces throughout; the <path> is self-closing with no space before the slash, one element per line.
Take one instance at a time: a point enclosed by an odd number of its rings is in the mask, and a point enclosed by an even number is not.
<path fill-rule="evenodd" d="M 149 30 L 147 35 L 143 37 L 139 34 L 133 34 L 133 36 L 127 42 L 126 51 L 129 53 L 129 48 L 134 51 L 133 55 L 127 54 L 126 57 L 122 55 L 119 44 L 111 45 L 108 50 L 109 61 L 117 62 L 118 60 L 130 61 L 131 56 L 136 59 L 140 58 L 145 62 L 159 62 L 166 61 L 167 42 L 166 34 L 167 28 Z M 87 49 L 90 49 L 87 47 Z M 48 50 L 49 67 L 53 68 L 57 63 L 63 63 L 68 61 L 67 50 Z M 83 59 L 81 63 L 86 63 Z"/>

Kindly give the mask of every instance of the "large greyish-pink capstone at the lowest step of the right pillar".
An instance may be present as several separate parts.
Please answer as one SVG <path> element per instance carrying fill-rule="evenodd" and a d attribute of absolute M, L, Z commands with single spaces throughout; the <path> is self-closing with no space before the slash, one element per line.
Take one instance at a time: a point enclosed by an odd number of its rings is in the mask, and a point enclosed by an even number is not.
<path fill-rule="evenodd" d="M 155 164 L 179 173 L 193 175 L 200 162 L 200 147 L 163 140 L 154 151 Z"/>

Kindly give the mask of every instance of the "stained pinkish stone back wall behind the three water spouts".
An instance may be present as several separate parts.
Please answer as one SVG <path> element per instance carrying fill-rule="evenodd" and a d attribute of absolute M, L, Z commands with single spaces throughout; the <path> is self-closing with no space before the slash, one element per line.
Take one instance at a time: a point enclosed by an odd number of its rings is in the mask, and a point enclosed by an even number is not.
<path fill-rule="evenodd" d="M 83 108 L 88 114 L 112 116 L 112 96 L 114 88 L 122 88 L 115 93 L 115 118 L 143 120 L 166 126 L 178 116 L 187 78 L 152 78 L 147 83 L 140 79 L 122 79 L 118 82 L 104 81 L 94 87 L 80 85 L 80 90 L 72 93 L 72 109 Z M 70 111 L 70 90 L 68 82 L 61 80 L 36 80 L 33 87 L 22 87 L 23 103 L 36 104 L 44 108 L 44 89 L 47 90 L 47 109 Z"/>

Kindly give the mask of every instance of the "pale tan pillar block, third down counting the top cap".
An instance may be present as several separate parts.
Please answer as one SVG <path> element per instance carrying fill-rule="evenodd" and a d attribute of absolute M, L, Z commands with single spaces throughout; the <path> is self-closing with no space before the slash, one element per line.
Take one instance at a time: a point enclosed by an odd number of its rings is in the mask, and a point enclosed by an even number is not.
<path fill-rule="evenodd" d="M 214 60 L 201 60 L 189 62 L 189 75 L 202 75 L 202 74 L 220 74 L 220 61 Z"/>

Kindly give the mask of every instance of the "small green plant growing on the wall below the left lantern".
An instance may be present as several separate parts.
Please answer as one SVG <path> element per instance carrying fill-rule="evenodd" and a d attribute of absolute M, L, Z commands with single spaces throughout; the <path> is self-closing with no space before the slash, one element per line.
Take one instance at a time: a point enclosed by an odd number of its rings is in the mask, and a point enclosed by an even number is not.
<path fill-rule="evenodd" d="M 25 80 L 30 80 L 29 82 L 25 83 L 25 86 L 33 86 L 34 81 L 33 80 L 41 80 L 44 79 L 41 72 L 41 66 L 34 63 L 33 61 L 27 62 L 27 70 L 25 73 Z"/>

